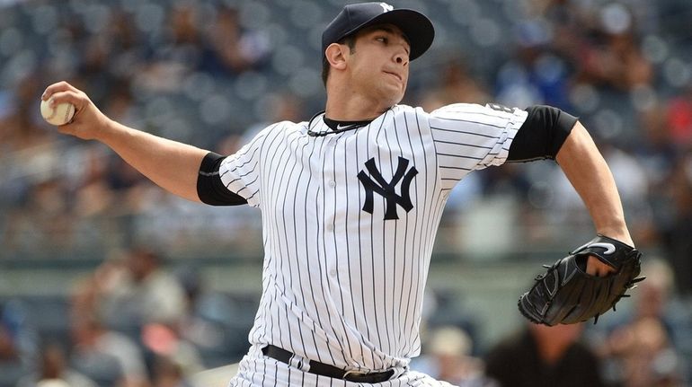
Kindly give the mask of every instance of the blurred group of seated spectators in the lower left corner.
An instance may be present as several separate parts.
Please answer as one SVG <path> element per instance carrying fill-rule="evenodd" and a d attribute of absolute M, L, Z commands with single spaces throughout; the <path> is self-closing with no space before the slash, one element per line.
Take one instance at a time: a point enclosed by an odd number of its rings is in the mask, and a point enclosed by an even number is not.
<path fill-rule="evenodd" d="M 134 246 L 71 286 L 62 315 L 21 297 L 0 303 L 0 386 L 61 381 L 71 387 L 182 387 L 236 361 L 252 323 L 208 289 L 195 268 L 166 268 L 160 251 Z M 58 318 L 54 330 L 45 319 Z"/>

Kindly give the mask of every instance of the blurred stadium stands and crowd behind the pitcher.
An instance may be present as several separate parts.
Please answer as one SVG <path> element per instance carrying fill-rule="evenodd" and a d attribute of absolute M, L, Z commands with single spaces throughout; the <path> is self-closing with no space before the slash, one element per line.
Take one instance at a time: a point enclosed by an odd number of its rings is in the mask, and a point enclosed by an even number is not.
<path fill-rule="evenodd" d="M 0 0 L 0 387 L 199 385 L 243 356 L 261 292 L 258 211 L 174 198 L 58 135 L 43 89 L 67 80 L 112 119 L 231 154 L 323 109 L 321 34 L 346 3 Z M 476 172 L 440 224 L 413 368 L 461 386 L 692 385 L 692 2 L 390 3 L 436 26 L 404 103 L 581 118 L 649 277 L 598 325 L 529 328 L 518 296 L 593 227 L 555 163 Z M 534 383 L 513 380 L 531 359 Z M 555 379 L 585 364 L 598 382 Z"/>

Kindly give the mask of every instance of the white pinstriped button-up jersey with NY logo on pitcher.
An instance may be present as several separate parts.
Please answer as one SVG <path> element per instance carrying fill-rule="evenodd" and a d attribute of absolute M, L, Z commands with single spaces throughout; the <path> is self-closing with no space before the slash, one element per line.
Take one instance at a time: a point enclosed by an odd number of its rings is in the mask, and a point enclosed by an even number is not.
<path fill-rule="evenodd" d="M 408 365 L 448 192 L 504 163 L 524 110 L 397 105 L 328 133 L 322 116 L 262 130 L 219 174 L 262 210 L 262 299 L 249 338 L 362 372 Z M 409 203 L 410 201 L 410 203 Z M 387 217 L 387 218 L 386 218 Z"/>

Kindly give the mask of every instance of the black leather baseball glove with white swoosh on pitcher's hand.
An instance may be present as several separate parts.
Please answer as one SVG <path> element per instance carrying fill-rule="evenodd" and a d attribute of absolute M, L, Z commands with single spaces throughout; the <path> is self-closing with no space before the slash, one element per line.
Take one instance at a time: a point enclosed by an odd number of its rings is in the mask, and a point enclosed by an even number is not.
<path fill-rule="evenodd" d="M 586 273 L 586 262 L 593 255 L 615 268 L 606 277 Z M 519 297 L 519 312 L 528 320 L 553 326 L 573 324 L 615 310 L 615 305 L 644 277 L 639 276 L 642 253 L 623 242 L 598 235 L 569 256 L 546 266 L 546 273 Z"/>

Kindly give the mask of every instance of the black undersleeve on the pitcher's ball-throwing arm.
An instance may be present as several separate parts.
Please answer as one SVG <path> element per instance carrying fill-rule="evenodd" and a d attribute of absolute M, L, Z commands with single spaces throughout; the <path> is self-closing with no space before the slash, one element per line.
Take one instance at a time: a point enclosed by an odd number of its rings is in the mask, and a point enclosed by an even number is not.
<path fill-rule="evenodd" d="M 197 196 L 202 203 L 212 206 L 239 206 L 247 204 L 242 196 L 229 191 L 221 181 L 218 167 L 224 161 L 224 156 L 209 152 L 200 165 L 200 174 L 197 176 Z"/>

